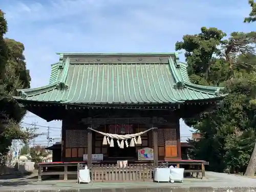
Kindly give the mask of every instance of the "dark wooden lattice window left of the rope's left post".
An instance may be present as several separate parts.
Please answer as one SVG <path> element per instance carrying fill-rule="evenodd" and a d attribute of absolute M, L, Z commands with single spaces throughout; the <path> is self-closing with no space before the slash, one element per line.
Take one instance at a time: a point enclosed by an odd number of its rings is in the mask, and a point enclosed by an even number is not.
<path fill-rule="evenodd" d="M 87 130 L 66 130 L 66 148 L 87 147 Z"/>

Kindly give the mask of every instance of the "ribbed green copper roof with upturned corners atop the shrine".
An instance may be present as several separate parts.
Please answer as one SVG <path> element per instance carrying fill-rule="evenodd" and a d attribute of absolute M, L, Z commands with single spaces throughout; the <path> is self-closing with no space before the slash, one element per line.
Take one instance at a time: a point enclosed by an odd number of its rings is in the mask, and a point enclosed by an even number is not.
<path fill-rule="evenodd" d="M 59 103 L 182 103 L 222 98 L 222 88 L 190 82 L 176 53 L 59 53 L 48 86 L 18 100 Z"/>

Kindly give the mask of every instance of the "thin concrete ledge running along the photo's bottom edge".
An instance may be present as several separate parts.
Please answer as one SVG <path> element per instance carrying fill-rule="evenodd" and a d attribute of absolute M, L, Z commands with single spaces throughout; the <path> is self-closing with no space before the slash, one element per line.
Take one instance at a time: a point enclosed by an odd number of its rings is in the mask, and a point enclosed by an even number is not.
<path fill-rule="evenodd" d="M 113 186 L 114 187 L 114 186 Z M 256 192 L 256 187 L 141 187 L 141 188 L 79 188 L 79 189 L 11 189 L 1 192 Z"/>

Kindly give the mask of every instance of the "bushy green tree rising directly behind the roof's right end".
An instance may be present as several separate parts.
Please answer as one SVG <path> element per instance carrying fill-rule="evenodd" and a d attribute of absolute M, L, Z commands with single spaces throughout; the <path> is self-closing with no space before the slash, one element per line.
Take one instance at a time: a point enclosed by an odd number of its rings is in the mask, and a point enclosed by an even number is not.
<path fill-rule="evenodd" d="M 216 84 L 217 79 L 210 79 L 209 73 L 211 70 L 217 70 L 212 69 L 216 67 L 214 66 L 216 58 L 213 56 L 221 54 L 217 46 L 221 44 L 221 39 L 225 36 L 226 34 L 217 28 L 202 27 L 201 33 L 184 35 L 183 41 L 176 43 L 176 51 L 185 50 L 188 75 L 192 82 L 203 85 Z"/>

